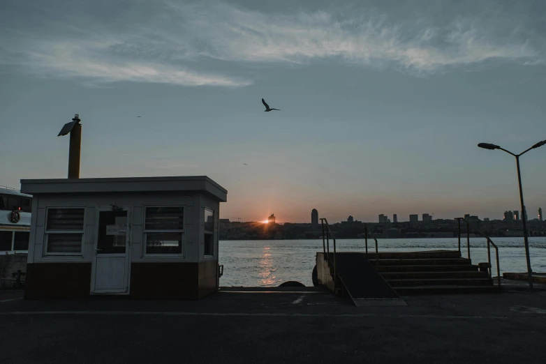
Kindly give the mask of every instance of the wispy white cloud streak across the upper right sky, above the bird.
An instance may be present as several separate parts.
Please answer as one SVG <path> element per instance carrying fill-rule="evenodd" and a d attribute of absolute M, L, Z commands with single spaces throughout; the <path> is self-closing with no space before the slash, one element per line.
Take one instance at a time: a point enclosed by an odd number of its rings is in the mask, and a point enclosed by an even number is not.
<path fill-rule="evenodd" d="M 427 22 L 420 19 L 389 22 L 387 15 L 376 13 L 339 17 L 325 11 L 265 14 L 222 3 L 206 10 L 170 6 L 188 18 L 188 33 L 199 34 L 205 42 L 202 49 L 193 51 L 225 61 L 307 63 L 340 59 L 429 73 L 489 59 L 530 64 L 543 56 L 526 41 L 499 36 L 496 29 L 480 27 L 472 20 L 424 26 Z"/>

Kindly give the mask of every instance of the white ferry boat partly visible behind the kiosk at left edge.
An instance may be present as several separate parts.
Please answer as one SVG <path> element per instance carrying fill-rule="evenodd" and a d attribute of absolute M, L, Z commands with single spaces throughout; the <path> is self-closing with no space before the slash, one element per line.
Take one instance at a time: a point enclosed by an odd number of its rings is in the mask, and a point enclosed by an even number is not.
<path fill-rule="evenodd" d="M 29 250 L 32 196 L 0 185 L 0 255 Z"/>

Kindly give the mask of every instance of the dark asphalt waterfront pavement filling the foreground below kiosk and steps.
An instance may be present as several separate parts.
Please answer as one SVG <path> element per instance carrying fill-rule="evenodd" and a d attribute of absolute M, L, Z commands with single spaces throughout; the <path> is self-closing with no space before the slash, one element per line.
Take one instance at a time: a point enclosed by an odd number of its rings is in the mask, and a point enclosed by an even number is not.
<path fill-rule="evenodd" d="M 510 283 L 503 294 L 361 308 L 314 288 L 202 301 L 0 295 L 0 362 L 542 363 L 546 290 Z"/>

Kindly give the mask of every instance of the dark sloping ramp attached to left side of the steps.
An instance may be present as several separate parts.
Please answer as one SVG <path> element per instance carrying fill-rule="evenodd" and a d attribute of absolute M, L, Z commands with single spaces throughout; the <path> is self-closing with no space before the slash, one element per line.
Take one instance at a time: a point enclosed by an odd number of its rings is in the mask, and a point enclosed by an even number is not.
<path fill-rule="evenodd" d="M 332 257 L 333 258 L 333 257 Z M 337 278 L 357 306 L 406 305 L 394 289 L 357 252 L 338 252 Z"/>

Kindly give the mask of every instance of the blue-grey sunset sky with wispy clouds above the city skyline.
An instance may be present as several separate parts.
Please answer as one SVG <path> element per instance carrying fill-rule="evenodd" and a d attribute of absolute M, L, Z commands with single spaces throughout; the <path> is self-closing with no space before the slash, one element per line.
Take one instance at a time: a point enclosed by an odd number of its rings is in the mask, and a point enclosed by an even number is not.
<path fill-rule="evenodd" d="M 502 218 L 515 159 L 476 145 L 546 139 L 540 0 L 3 0 L 0 33 L 14 188 L 66 178 L 78 113 L 82 178 L 206 175 L 221 218 Z M 521 166 L 532 219 L 546 146 Z"/>

